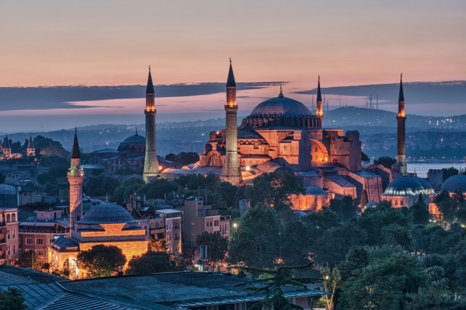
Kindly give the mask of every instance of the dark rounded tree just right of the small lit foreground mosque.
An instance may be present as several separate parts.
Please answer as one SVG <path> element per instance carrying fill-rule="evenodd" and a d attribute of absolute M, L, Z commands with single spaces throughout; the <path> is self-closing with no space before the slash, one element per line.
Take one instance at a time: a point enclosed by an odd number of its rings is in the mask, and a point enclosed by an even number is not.
<path fill-rule="evenodd" d="M 166 252 L 146 252 L 133 257 L 128 263 L 126 275 L 149 275 L 176 271 L 175 261 Z"/>

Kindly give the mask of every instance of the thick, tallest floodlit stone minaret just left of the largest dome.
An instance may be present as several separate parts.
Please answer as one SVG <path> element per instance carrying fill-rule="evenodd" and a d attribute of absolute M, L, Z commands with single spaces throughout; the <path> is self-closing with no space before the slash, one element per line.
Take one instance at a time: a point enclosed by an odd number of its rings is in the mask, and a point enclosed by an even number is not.
<path fill-rule="evenodd" d="M 222 174 L 220 179 L 238 185 L 243 180 L 238 160 L 238 125 L 236 113 L 238 105 L 236 104 L 236 83 L 234 81 L 232 59 L 230 58 L 230 70 L 227 78 L 227 104 L 225 104 L 226 114 L 226 154 L 223 163 Z"/>

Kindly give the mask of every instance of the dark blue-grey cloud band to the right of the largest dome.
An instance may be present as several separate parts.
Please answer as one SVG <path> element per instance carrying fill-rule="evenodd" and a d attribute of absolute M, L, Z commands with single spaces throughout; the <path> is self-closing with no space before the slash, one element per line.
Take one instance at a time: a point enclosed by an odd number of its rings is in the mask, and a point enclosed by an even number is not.
<path fill-rule="evenodd" d="M 316 88 L 305 91 L 297 91 L 297 94 L 316 94 Z M 360 86 L 323 87 L 328 95 L 362 96 L 372 99 L 396 103 L 398 100 L 399 83 L 375 84 Z M 403 82 L 403 92 L 406 103 L 465 103 L 466 81 L 444 82 Z"/>

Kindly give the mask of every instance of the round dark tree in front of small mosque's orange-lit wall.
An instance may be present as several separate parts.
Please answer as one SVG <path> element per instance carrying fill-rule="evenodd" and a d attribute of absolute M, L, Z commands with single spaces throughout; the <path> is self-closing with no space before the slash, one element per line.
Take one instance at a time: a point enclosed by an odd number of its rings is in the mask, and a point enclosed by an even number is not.
<path fill-rule="evenodd" d="M 115 245 L 97 244 L 78 254 L 80 267 L 91 277 L 111 276 L 126 263 L 126 257 Z"/>

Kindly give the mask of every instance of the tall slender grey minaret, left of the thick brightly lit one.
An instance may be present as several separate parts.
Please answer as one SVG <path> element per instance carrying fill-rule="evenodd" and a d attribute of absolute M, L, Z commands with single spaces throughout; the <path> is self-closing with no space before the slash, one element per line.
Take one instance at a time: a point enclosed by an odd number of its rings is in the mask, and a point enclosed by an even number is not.
<path fill-rule="evenodd" d="M 159 162 L 157 160 L 157 153 L 155 152 L 155 92 L 154 85 L 152 84 L 152 75 L 147 79 L 146 88 L 146 158 L 144 160 L 144 182 L 149 182 L 150 179 L 157 176 L 159 173 Z"/>

